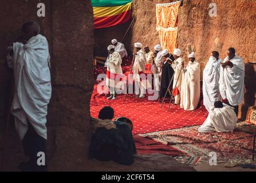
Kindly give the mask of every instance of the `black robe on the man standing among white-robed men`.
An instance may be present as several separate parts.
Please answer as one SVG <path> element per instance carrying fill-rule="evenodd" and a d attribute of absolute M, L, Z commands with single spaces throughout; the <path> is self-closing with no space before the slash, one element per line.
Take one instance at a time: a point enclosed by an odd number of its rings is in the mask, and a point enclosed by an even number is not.
<path fill-rule="evenodd" d="M 174 61 L 173 55 L 170 56 L 170 59 L 172 61 Z M 172 69 L 171 64 L 168 62 L 164 63 L 163 69 L 162 69 L 160 97 L 164 97 L 164 95 L 166 94 L 166 91 L 167 91 L 170 81 L 172 79 L 172 75 L 174 75 L 174 69 Z M 173 83 L 173 80 L 172 80 L 172 83 Z M 172 83 L 170 85 L 170 91 L 172 91 Z M 169 92 L 167 92 L 167 97 L 170 97 Z"/>

